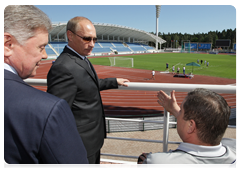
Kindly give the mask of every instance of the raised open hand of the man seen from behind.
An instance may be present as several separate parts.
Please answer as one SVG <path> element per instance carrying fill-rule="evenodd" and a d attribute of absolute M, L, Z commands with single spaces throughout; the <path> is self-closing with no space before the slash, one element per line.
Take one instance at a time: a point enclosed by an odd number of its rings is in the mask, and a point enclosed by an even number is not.
<path fill-rule="evenodd" d="M 158 103 L 177 118 L 180 107 L 177 104 L 175 90 L 171 92 L 171 96 L 168 96 L 164 91 L 160 90 L 157 93 L 157 97 L 159 99 Z"/>

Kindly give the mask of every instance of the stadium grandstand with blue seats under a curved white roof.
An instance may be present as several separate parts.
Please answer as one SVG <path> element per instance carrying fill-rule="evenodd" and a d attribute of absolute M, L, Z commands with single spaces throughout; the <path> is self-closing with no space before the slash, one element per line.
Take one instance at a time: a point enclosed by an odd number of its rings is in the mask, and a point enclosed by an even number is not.
<path fill-rule="evenodd" d="M 110 54 L 133 54 L 153 53 L 158 50 L 149 46 L 149 42 L 159 42 L 160 45 L 166 41 L 156 35 L 130 27 L 93 23 L 96 28 L 98 41 L 90 56 Z M 66 34 L 67 23 L 52 25 L 49 31 L 49 44 L 46 52 L 49 58 L 56 58 L 67 45 Z"/>

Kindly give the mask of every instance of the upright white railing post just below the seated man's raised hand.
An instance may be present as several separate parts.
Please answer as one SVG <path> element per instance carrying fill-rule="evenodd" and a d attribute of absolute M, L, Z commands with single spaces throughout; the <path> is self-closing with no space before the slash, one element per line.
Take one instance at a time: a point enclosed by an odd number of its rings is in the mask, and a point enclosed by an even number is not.
<path fill-rule="evenodd" d="M 167 93 L 170 95 L 170 93 Z M 163 124 L 163 152 L 168 150 L 168 132 L 169 132 L 169 112 L 164 109 L 164 124 Z"/>

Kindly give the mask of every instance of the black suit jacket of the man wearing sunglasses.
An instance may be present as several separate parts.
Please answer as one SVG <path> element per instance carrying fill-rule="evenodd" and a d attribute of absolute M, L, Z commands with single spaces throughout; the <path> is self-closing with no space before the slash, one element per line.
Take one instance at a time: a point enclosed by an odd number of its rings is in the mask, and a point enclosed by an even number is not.
<path fill-rule="evenodd" d="M 47 75 L 47 91 L 68 102 L 88 156 L 102 147 L 106 137 L 100 90 L 118 88 L 116 78 L 98 79 L 92 69 L 95 75 L 78 54 L 65 47 Z"/>

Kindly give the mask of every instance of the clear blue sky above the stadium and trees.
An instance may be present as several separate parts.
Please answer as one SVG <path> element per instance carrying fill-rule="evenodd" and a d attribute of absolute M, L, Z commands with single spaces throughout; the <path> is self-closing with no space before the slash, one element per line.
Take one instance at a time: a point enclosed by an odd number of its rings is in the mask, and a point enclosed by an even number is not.
<path fill-rule="evenodd" d="M 84 16 L 92 22 L 156 31 L 155 5 L 36 5 L 53 23 Z M 162 5 L 158 32 L 207 33 L 238 28 L 237 5 Z"/>

